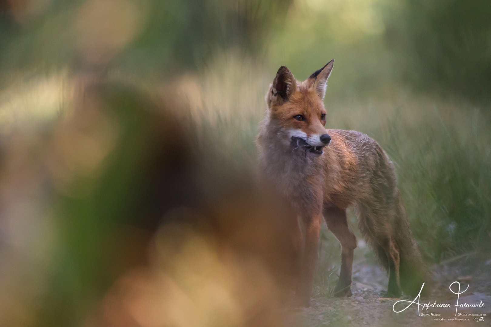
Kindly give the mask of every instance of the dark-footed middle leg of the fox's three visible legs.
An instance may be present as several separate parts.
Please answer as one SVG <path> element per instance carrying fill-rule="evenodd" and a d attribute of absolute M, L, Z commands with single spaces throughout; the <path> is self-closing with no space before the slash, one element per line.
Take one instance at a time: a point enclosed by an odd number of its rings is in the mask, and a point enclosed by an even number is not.
<path fill-rule="evenodd" d="M 324 218 L 327 227 L 341 243 L 341 272 L 339 280 L 334 288 L 334 296 L 337 298 L 350 297 L 351 271 L 353 269 L 353 250 L 356 248 L 355 234 L 348 227 L 346 209 L 330 207 L 324 209 Z"/>

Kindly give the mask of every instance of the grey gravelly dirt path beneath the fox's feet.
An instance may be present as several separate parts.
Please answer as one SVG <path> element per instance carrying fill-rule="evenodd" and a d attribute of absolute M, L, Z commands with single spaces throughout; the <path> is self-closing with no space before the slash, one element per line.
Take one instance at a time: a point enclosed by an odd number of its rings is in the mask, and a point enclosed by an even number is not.
<path fill-rule="evenodd" d="M 386 288 L 388 278 L 385 272 L 371 260 L 358 258 L 354 262 L 353 296 L 351 298 L 336 299 L 325 296 L 314 296 L 311 307 L 301 309 L 298 313 L 299 325 L 314 326 L 469 326 L 474 324 L 474 317 L 461 316 L 459 319 L 468 321 L 437 321 L 435 319 L 452 319 L 455 317 L 455 301 L 457 295 L 452 294 L 449 285 L 454 281 L 462 284 L 461 292 L 469 284 L 469 288 L 460 295 L 459 303 L 474 303 L 483 301 L 485 304 L 479 309 L 459 309 L 459 313 L 489 313 L 491 312 L 491 260 L 488 255 L 482 256 L 476 253 L 462 256 L 432 267 L 435 287 L 429 300 L 437 303 L 451 303 L 450 309 L 430 308 L 424 313 L 426 316 L 418 316 L 417 305 L 411 305 L 407 310 L 395 313 L 393 304 L 400 299 L 381 298 L 382 291 Z M 457 290 L 457 284 L 454 285 Z M 412 301 L 413 299 L 402 299 Z M 425 303 L 428 303 L 426 300 Z M 423 301 L 421 301 L 423 303 Z M 398 303 L 404 308 L 408 302 Z M 420 311 L 423 313 L 423 311 Z M 433 314 L 433 315 L 432 315 Z M 439 316 L 438 316 L 439 315 Z M 484 317 L 484 324 L 479 326 L 491 326 L 491 316 Z"/>

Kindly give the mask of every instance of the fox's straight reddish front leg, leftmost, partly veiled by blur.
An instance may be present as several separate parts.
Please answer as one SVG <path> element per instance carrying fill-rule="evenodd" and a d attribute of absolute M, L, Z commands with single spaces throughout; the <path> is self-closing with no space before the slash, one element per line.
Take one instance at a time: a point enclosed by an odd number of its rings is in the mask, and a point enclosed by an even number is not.
<path fill-rule="evenodd" d="M 314 282 L 321 231 L 322 215 L 306 217 L 300 222 L 303 225 L 303 253 L 300 263 L 300 280 L 298 295 L 302 306 L 310 305 L 312 285 Z"/>

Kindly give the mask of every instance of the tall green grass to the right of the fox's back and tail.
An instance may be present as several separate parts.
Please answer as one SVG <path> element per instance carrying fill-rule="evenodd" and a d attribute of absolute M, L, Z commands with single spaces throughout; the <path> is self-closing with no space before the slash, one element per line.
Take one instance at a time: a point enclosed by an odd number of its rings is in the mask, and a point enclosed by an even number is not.
<path fill-rule="evenodd" d="M 446 116 L 446 117 L 444 117 Z M 398 165 L 411 226 L 432 261 L 491 244 L 489 120 L 445 103 L 404 130 L 394 122 L 389 154 Z M 408 149 L 398 144 L 408 139 Z"/>

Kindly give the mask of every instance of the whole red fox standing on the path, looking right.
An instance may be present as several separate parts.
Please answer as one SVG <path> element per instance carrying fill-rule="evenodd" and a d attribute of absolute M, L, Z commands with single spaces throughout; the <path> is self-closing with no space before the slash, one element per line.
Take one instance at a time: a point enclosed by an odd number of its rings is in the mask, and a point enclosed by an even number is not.
<path fill-rule="evenodd" d="M 336 297 L 350 297 L 356 239 L 346 209 L 389 274 L 384 297 L 416 296 L 430 282 L 409 228 L 394 166 L 380 145 L 356 131 L 326 129 L 324 96 L 334 60 L 303 82 L 280 67 L 266 95 L 267 116 L 256 144 L 261 172 L 297 210 L 297 294 L 310 304 L 322 217 L 341 243 Z M 425 288 L 427 290 L 428 288 Z"/>

